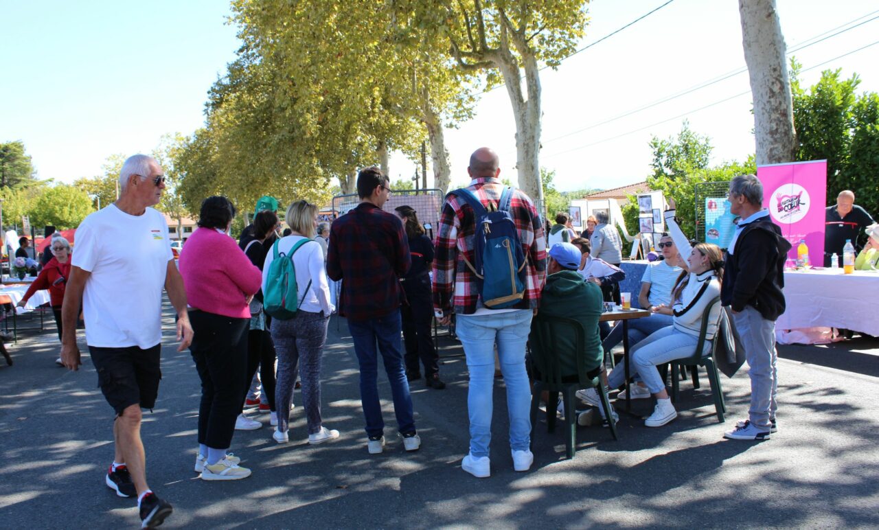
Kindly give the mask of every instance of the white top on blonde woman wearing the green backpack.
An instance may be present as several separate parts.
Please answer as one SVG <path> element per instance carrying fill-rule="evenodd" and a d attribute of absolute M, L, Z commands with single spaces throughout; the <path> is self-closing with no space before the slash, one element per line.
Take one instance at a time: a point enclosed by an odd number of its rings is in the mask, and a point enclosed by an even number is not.
<path fill-rule="evenodd" d="M 303 236 L 286 236 L 278 240 L 278 251 L 287 254 L 293 245 L 298 243 Z M 299 250 L 293 255 L 293 266 L 296 271 L 296 287 L 301 303 L 299 309 L 309 313 L 320 313 L 330 316 L 335 308 L 330 303 L 330 287 L 327 283 L 326 266 L 323 262 L 323 248 L 319 243 L 302 243 Z M 274 245 L 272 245 L 273 247 Z M 269 267 L 274 261 L 274 249 L 270 248 L 265 256 L 263 265 L 263 292 L 265 293 L 265 280 L 269 275 Z M 309 287 L 309 280 L 311 287 Z M 305 289 L 308 288 L 308 293 Z"/>

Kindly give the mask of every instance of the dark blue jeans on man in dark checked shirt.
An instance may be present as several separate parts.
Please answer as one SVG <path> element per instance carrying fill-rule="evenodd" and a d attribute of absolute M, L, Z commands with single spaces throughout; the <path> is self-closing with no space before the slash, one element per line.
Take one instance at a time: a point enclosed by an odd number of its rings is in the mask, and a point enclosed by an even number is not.
<path fill-rule="evenodd" d="M 394 397 L 396 425 L 403 434 L 415 432 L 412 398 L 409 395 L 409 381 L 406 381 L 400 344 L 403 332 L 400 312 L 392 311 L 388 315 L 370 320 L 349 320 L 348 330 L 351 331 L 354 353 L 360 363 L 360 403 L 367 419 L 367 435 L 377 438 L 384 434 L 378 388 L 379 352 L 388 374 L 390 392 Z"/>

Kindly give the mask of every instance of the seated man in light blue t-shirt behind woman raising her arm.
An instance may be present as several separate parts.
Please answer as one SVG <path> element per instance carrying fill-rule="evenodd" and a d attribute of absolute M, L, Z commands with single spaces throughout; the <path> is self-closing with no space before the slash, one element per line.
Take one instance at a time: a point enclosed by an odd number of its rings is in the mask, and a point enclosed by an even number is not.
<path fill-rule="evenodd" d="M 636 345 L 650 334 L 672 325 L 672 286 L 681 272 L 678 247 L 674 245 L 672 236 L 666 233 L 660 237 L 659 251 L 664 259 L 647 265 L 641 277 L 641 292 L 638 293 L 641 309 L 648 310 L 651 314 L 647 318 L 633 318 L 628 321 L 629 345 Z M 617 323 L 602 343 L 605 352 L 613 350 L 621 340 L 622 324 Z M 650 397 L 650 392 L 645 387 L 632 391 L 632 399 L 642 397 Z"/>

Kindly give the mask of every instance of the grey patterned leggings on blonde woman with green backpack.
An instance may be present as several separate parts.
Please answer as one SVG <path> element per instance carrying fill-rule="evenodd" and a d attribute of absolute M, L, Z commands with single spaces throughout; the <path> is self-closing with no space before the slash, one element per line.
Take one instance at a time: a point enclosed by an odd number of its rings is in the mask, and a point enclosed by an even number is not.
<path fill-rule="evenodd" d="M 321 356 L 327 338 L 329 316 L 298 311 L 290 320 L 272 319 L 272 340 L 278 353 L 278 381 L 275 406 L 278 430 L 287 432 L 290 402 L 299 368 L 302 382 L 302 406 L 309 425 L 309 434 L 321 430 Z M 301 361 L 301 362 L 300 362 Z"/>

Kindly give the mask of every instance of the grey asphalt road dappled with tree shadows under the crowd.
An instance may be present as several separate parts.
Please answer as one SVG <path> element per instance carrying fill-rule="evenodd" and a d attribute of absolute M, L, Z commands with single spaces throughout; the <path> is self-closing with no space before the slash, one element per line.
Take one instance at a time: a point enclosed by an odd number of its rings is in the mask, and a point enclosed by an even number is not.
<path fill-rule="evenodd" d="M 163 527 L 875 527 L 879 460 L 875 416 L 879 341 L 781 347 L 780 432 L 765 442 L 722 438 L 747 412 L 746 369 L 723 377 L 730 410 L 720 425 L 707 389 L 682 384 L 680 416 L 649 429 L 623 416 L 620 440 L 578 429 L 564 458 L 562 429 L 534 437 L 534 467 L 512 470 L 503 382 L 495 391 L 492 476 L 461 470 L 468 449 L 467 376 L 460 345 L 440 342 L 445 390 L 413 382 L 423 446 L 396 439 L 390 392 L 380 377 L 389 445 L 370 455 L 360 412 L 357 363 L 345 322 L 330 324 L 323 357 L 324 425 L 340 439 L 306 444 L 301 396 L 291 442 L 271 429 L 236 432 L 232 450 L 250 478 L 205 483 L 193 472 L 200 383 L 188 352 L 175 352 L 164 314 L 163 381 L 142 436 L 149 483 L 174 505 Z M 82 332 L 80 332 L 82 335 Z M 81 338 L 81 342 L 84 339 Z M 84 348 L 84 344 L 81 345 Z M 0 366 L 0 527 L 120 528 L 140 524 L 134 499 L 104 484 L 113 459 L 113 412 L 84 369 L 54 366 L 54 324 L 11 345 Z M 3 365 L 0 361 L 0 365 Z M 637 402 L 650 412 L 650 402 Z M 268 416 L 260 417 L 268 424 Z"/>

